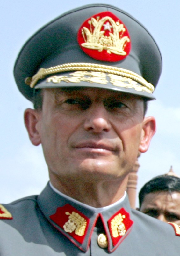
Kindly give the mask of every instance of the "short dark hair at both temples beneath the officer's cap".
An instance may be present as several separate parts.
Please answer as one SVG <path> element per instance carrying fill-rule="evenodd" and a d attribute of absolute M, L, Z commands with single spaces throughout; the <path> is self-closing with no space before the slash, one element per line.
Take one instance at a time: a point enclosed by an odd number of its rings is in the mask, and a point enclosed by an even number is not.
<path fill-rule="evenodd" d="M 145 116 L 148 109 L 148 99 L 144 98 L 143 103 L 144 103 L 144 116 Z M 43 104 L 42 90 L 41 89 L 34 90 L 34 97 L 33 97 L 34 109 L 41 110 L 42 104 Z"/>

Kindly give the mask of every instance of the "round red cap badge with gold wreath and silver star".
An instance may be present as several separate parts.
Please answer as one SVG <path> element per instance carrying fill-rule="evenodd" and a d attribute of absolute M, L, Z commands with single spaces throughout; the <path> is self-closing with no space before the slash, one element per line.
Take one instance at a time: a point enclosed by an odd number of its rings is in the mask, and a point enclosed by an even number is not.
<path fill-rule="evenodd" d="M 101 61 L 123 60 L 131 49 L 126 26 L 112 12 L 100 12 L 85 20 L 77 41 L 87 55 Z"/>

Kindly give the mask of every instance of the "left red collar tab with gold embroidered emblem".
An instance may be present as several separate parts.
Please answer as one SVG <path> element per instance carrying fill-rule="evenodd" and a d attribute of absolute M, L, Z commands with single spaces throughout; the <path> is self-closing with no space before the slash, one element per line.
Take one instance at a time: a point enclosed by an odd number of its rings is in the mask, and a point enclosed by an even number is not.
<path fill-rule="evenodd" d="M 89 219 L 70 204 L 58 207 L 56 213 L 49 216 L 69 236 L 72 236 L 80 244 L 86 236 Z"/>

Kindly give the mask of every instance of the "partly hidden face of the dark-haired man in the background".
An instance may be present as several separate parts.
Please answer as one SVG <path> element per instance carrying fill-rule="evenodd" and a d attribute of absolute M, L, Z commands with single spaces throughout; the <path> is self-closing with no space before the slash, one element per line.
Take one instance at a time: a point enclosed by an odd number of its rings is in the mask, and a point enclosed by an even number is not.
<path fill-rule="evenodd" d="M 175 222 L 180 225 L 180 193 L 149 193 L 144 197 L 140 212 L 164 222 Z"/>

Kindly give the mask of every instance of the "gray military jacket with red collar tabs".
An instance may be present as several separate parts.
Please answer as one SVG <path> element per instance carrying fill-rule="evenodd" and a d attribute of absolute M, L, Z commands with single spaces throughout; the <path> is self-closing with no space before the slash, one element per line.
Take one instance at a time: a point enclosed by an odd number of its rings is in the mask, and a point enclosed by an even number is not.
<path fill-rule="evenodd" d="M 95 213 L 47 184 L 39 196 L 3 206 L 13 219 L 0 220 L 0 256 L 180 255 L 180 236 L 174 228 L 132 210 L 127 196 L 119 205 Z M 101 248 L 97 239 L 107 247 Z"/>

